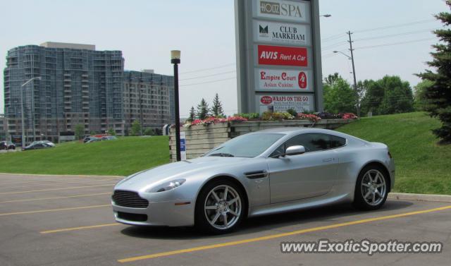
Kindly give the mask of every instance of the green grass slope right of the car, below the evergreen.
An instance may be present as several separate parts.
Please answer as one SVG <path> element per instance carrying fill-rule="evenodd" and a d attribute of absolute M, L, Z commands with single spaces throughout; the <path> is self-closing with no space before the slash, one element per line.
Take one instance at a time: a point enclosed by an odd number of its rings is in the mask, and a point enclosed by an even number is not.
<path fill-rule="evenodd" d="M 440 122 L 422 112 L 363 118 L 338 131 L 385 143 L 395 158 L 395 191 L 451 195 L 451 145 L 437 145 Z"/>

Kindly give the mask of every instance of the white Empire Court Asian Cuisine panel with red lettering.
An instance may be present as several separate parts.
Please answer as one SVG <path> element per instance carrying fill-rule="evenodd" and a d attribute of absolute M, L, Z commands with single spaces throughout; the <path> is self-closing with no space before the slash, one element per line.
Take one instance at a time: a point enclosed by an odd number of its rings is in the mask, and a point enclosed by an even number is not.
<path fill-rule="evenodd" d="M 255 77 L 257 91 L 307 92 L 313 90 L 311 71 L 257 68 Z"/>

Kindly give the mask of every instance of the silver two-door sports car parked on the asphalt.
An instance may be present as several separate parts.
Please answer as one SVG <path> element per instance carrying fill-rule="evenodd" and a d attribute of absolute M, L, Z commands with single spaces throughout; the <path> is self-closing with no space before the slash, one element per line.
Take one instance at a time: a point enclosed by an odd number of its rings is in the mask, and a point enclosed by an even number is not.
<path fill-rule="evenodd" d="M 375 210 L 395 183 L 382 143 L 317 128 L 233 138 L 197 159 L 132 174 L 114 188 L 117 222 L 235 229 L 246 217 L 352 202 Z"/>

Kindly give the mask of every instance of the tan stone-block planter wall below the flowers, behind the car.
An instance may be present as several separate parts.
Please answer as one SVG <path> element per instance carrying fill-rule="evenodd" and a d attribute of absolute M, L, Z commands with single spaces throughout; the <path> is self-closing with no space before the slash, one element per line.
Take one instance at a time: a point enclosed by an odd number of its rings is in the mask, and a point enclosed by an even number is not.
<path fill-rule="evenodd" d="M 261 131 L 268 128 L 284 127 L 314 127 L 335 129 L 339 126 L 351 123 L 354 119 L 322 119 L 317 122 L 308 120 L 286 120 L 286 121 L 245 121 L 228 123 L 211 123 L 209 125 L 196 125 L 181 127 L 180 131 L 186 135 L 186 157 L 193 159 L 203 155 L 205 152 L 225 143 L 231 138 L 249 132 Z M 175 129 L 171 128 L 169 134 L 169 147 L 171 161 L 175 162 Z"/>

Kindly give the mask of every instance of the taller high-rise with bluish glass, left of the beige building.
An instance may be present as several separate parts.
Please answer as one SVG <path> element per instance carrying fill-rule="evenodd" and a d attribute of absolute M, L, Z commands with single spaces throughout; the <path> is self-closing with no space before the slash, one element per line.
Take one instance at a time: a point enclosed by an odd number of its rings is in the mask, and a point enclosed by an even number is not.
<path fill-rule="evenodd" d="M 28 141 L 54 140 L 78 123 L 87 133 L 114 128 L 121 134 L 123 68 L 121 51 L 96 51 L 94 45 L 46 42 L 9 50 L 4 70 L 8 131 L 21 132 L 23 95 Z"/>

